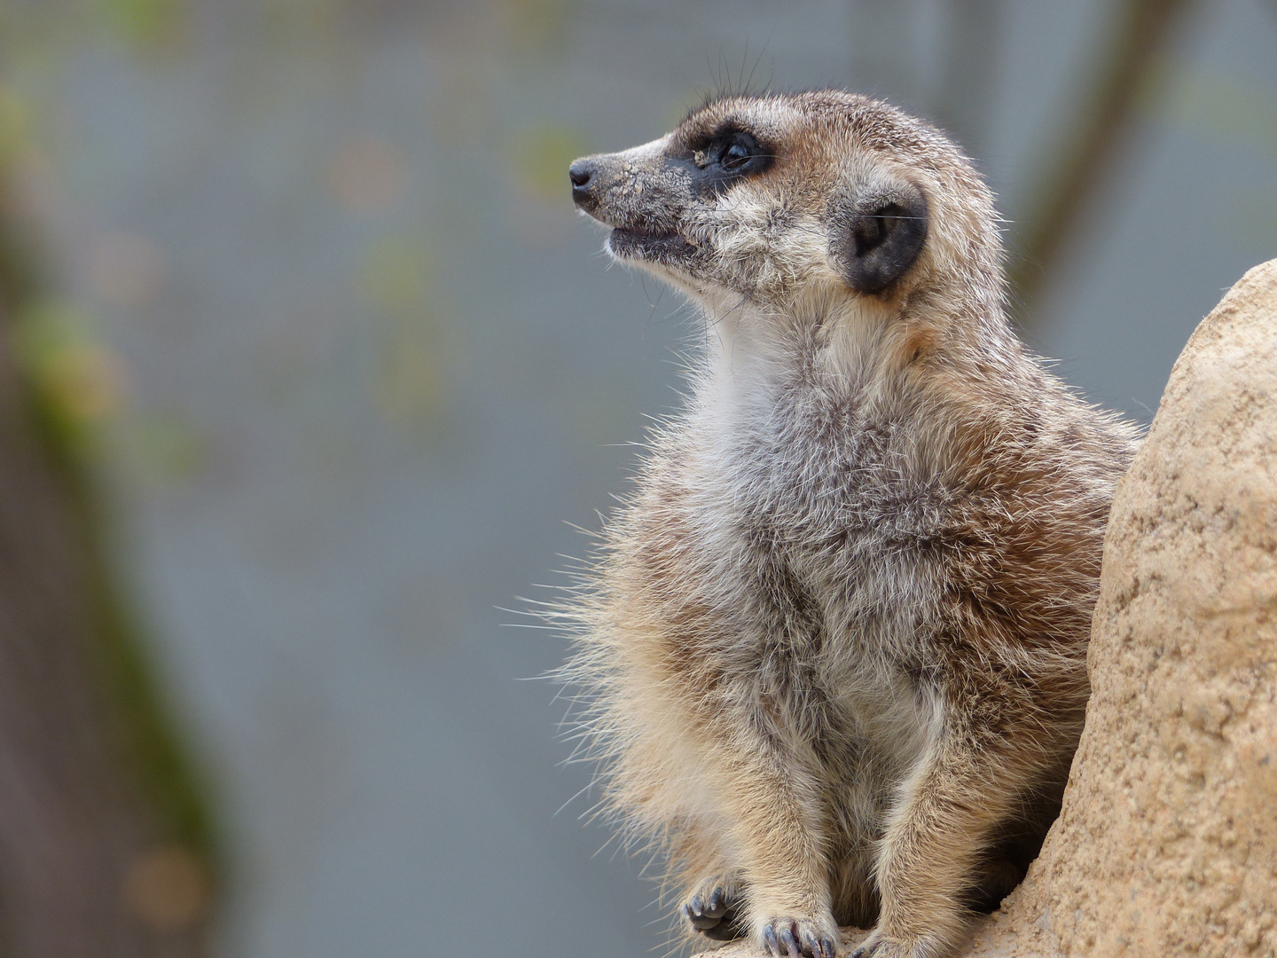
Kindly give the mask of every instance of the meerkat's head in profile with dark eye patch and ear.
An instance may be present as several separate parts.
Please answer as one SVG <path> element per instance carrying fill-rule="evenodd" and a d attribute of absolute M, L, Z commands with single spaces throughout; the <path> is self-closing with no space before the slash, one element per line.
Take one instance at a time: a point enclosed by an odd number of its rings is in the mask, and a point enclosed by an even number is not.
<path fill-rule="evenodd" d="M 572 163 L 608 252 L 707 304 L 785 313 L 1000 300 L 992 197 L 935 128 L 840 91 L 728 97 Z"/>

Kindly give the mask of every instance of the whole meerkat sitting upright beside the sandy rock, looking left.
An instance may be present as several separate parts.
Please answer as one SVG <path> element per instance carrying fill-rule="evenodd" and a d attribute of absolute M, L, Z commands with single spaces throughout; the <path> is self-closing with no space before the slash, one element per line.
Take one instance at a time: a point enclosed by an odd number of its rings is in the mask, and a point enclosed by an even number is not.
<path fill-rule="evenodd" d="M 706 323 L 566 609 L 604 802 L 691 935 L 950 954 L 1059 811 L 1138 432 L 1016 338 L 992 194 L 886 103 L 727 97 L 570 172 Z"/>

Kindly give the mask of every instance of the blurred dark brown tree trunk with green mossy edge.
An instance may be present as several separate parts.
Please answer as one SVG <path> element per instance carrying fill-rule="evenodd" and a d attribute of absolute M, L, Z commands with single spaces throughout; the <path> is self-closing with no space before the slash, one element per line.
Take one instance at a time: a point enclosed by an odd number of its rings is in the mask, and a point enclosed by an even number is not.
<path fill-rule="evenodd" d="M 84 462 L 11 349 L 46 284 L 4 160 L 0 953 L 197 958 L 208 816 L 112 588 Z"/>

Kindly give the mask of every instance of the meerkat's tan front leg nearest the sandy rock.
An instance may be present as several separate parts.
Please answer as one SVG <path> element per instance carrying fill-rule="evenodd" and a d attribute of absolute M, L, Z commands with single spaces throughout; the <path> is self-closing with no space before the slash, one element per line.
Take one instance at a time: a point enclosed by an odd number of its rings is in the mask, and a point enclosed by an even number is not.
<path fill-rule="evenodd" d="M 1025 733 L 1020 733 L 1022 736 Z M 852 958 L 940 958 L 962 940 L 968 893 L 997 825 L 1039 769 L 949 731 L 907 783 L 877 860 L 877 926 Z"/>

